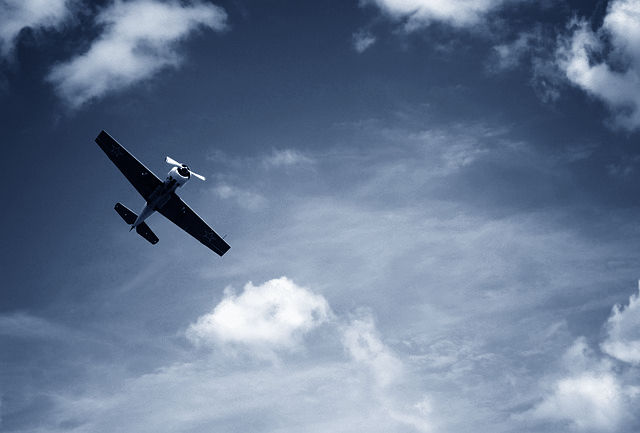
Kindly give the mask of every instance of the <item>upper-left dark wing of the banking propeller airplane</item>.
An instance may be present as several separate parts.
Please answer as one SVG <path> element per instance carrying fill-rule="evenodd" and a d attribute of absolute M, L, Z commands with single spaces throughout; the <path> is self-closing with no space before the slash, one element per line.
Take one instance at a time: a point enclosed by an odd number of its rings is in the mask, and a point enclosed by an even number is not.
<path fill-rule="evenodd" d="M 145 200 L 162 183 L 158 176 L 153 174 L 151 170 L 145 167 L 144 164 L 138 161 L 106 132 L 100 132 L 96 137 L 96 143 Z"/>

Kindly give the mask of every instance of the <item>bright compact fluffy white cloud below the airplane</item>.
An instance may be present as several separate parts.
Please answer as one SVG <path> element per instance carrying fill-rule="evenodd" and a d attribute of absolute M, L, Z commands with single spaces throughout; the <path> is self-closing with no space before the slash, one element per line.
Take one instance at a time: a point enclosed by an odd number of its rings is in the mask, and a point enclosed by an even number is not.
<path fill-rule="evenodd" d="M 211 313 L 187 330 L 195 343 L 230 343 L 271 353 L 295 348 L 300 338 L 331 316 L 321 295 L 286 277 L 254 286 L 247 283 L 240 295 L 230 290 Z"/>

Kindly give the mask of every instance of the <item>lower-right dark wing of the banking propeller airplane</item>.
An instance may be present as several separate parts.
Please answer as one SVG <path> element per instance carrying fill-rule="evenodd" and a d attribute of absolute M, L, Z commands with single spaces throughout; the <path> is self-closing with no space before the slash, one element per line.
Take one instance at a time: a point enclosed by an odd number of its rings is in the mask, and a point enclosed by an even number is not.
<path fill-rule="evenodd" d="M 158 212 L 220 256 L 231 248 L 175 193 Z"/>

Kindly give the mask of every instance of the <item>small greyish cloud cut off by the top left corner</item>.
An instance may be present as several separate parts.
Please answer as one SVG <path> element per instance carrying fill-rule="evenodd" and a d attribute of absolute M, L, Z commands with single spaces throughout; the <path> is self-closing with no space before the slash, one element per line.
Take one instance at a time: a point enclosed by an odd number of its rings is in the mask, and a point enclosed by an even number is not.
<path fill-rule="evenodd" d="M 0 53 L 11 53 L 22 29 L 58 27 L 68 13 L 66 0 L 0 0 Z"/>

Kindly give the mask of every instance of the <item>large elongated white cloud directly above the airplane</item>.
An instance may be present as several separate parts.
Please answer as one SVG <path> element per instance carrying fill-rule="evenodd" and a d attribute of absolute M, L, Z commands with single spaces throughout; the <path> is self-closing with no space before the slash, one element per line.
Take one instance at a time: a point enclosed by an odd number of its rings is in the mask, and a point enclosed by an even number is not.
<path fill-rule="evenodd" d="M 54 66 L 47 80 L 72 108 L 181 62 L 177 43 L 195 30 L 225 28 L 226 14 L 206 3 L 116 0 L 96 18 L 102 34 L 89 50 Z"/>

